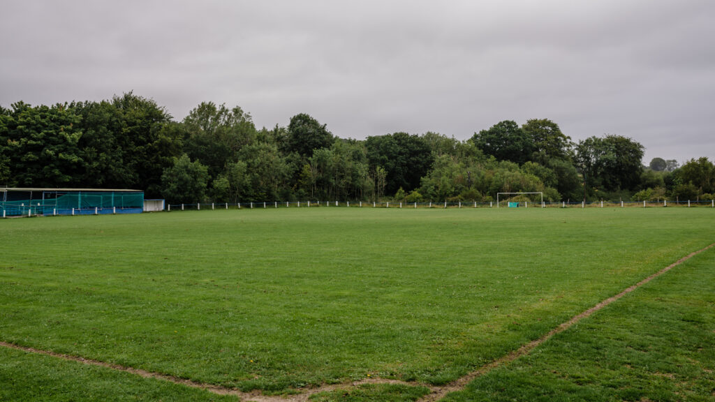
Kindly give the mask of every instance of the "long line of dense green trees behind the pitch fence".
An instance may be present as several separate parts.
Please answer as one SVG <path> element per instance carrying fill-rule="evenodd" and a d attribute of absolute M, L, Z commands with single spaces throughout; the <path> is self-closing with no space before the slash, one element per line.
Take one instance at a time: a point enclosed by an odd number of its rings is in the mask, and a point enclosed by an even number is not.
<path fill-rule="evenodd" d="M 607 134 L 573 142 L 550 119 L 498 122 L 465 141 L 435 132 L 336 137 L 308 114 L 257 129 L 240 107 L 203 102 L 181 122 L 132 92 L 101 102 L 0 107 L 0 185 L 144 190 L 169 202 L 485 202 L 497 192 L 561 200 L 697 200 L 706 157 L 679 166 Z"/>

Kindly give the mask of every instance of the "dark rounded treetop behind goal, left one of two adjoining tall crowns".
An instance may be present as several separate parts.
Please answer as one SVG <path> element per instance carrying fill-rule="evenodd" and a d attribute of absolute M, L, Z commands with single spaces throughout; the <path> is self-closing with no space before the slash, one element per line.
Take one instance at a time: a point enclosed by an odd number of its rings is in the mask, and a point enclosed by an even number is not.
<path fill-rule="evenodd" d="M 533 122 L 530 120 L 530 122 Z M 536 123 L 531 123 L 533 132 L 536 130 Z M 558 127 L 557 127 L 558 129 Z M 494 124 L 489 129 L 483 129 L 475 133 L 472 142 L 486 155 L 492 155 L 497 160 L 508 160 L 522 164 L 531 159 L 532 153 L 537 149 L 533 141 L 534 133 L 527 132 L 519 127 L 512 120 L 505 120 Z"/>

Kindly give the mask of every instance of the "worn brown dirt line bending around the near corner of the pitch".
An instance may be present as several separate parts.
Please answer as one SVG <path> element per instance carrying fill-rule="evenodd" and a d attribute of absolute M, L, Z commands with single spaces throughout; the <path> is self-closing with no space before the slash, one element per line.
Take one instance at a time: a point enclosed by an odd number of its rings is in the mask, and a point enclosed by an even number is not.
<path fill-rule="evenodd" d="M 713 243 L 707 247 L 704 247 L 701 250 L 695 251 L 694 253 L 690 253 L 689 255 L 686 255 L 684 258 L 677 260 L 675 263 L 668 265 L 666 268 L 659 270 L 657 273 L 650 275 L 648 278 L 645 278 L 644 280 L 641 280 L 640 282 L 636 283 L 635 285 L 632 285 L 632 286 L 624 289 L 623 291 L 621 291 L 621 293 L 618 293 L 617 295 L 614 295 L 610 298 L 607 298 L 606 300 L 601 301 L 601 303 L 598 303 L 598 304 L 594 305 L 593 307 L 589 308 L 588 310 L 583 311 L 583 313 L 573 316 L 573 318 L 571 318 L 571 320 L 568 320 L 565 323 L 558 325 L 558 327 L 553 328 L 553 330 L 549 331 L 548 333 L 546 333 L 546 335 L 543 335 L 541 338 L 532 340 L 529 343 L 521 345 L 521 347 L 518 348 L 517 350 L 513 350 L 511 353 L 508 353 L 507 355 L 502 356 L 501 358 L 498 358 L 495 361 L 487 363 L 484 366 L 481 366 L 480 368 L 478 368 L 477 370 L 475 370 L 471 373 L 468 373 L 467 375 L 460 377 L 457 380 L 455 380 L 451 383 L 448 383 L 445 386 L 428 386 L 423 383 L 390 380 L 390 379 L 385 379 L 385 378 L 366 378 L 361 381 L 352 381 L 350 383 L 326 385 L 326 386 L 320 386 L 317 388 L 299 388 L 295 391 L 298 391 L 300 393 L 295 394 L 295 395 L 265 396 L 265 395 L 262 395 L 262 393 L 260 393 L 260 391 L 242 392 L 242 391 L 238 391 L 238 390 L 232 389 L 232 388 L 224 388 L 224 387 L 215 386 L 212 384 L 198 383 L 195 381 L 190 381 L 190 380 L 187 380 L 184 378 L 179 378 L 176 376 L 167 376 L 166 374 L 152 373 L 150 371 L 144 371 L 144 370 L 140 370 L 138 368 L 119 366 L 116 364 L 105 363 L 102 361 L 81 358 L 78 356 L 69 356 L 69 355 L 65 355 L 62 353 L 51 352 L 49 350 L 39 350 L 39 349 L 35 349 L 35 348 L 29 348 L 26 346 L 14 345 L 13 343 L 7 343 L 7 342 L 0 341 L 0 346 L 4 346 L 6 348 L 17 349 L 17 350 L 24 350 L 24 351 L 30 352 L 30 353 L 38 353 L 38 354 L 45 355 L 45 356 L 52 356 L 55 358 L 62 358 L 67 361 L 77 361 L 79 363 L 89 364 L 92 366 L 101 366 L 101 367 L 106 367 L 106 368 L 112 368 L 114 370 L 125 371 L 127 373 L 136 374 L 137 376 L 142 376 L 144 378 L 157 378 L 157 379 L 164 380 L 164 381 L 171 381 L 172 383 L 182 384 L 184 386 L 189 386 L 189 387 L 193 387 L 193 388 L 202 388 L 209 392 L 216 393 L 219 395 L 237 396 L 241 399 L 241 401 L 246 401 L 246 402 L 248 402 L 248 401 L 253 401 L 253 402 L 306 402 L 309 400 L 310 396 L 312 396 L 316 393 L 335 391 L 335 390 L 339 390 L 339 389 L 350 389 L 352 387 L 360 386 L 363 384 L 403 384 L 406 386 L 423 386 L 423 387 L 429 388 L 430 393 L 428 393 L 423 398 L 420 398 L 418 400 L 418 402 L 434 402 L 434 401 L 439 401 L 441 398 L 446 396 L 448 393 L 455 392 L 455 391 L 461 391 L 463 388 L 465 388 L 465 386 L 467 386 L 468 383 L 470 383 L 470 381 L 477 378 L 478 376 L 483 376 L 485 373 L 488 373 L 489 371 L 493 370 L 494 368 L 504 366 L 504 365 L 510 363 L 511 361 L 514 361 L 517 358 L 530 353 L 531 350 L 536 348 L 538 345 L 541 345 L 542 343 L 546 342 L 546 340 L 551 338 L 553 335 L 556 335 L 558 333 L 561 333 L 561 332 L 567 330 L 568 328 L 571 328 L 571 325 L 578 323 L 578 321 L 583 320 L 583 318 L 587 318 L 589 315 L 595 313 L 598 310 L 601 310 L 601 308 L 606 307 L 606 305 L 609 305 L 609 304 L 613 303 L 614 301 L 627 295 L 628 293 L 633 292 L 633 290 L 640 288 L 641 286 L 645 285 L 646 283 L 649 283 L 654 278 L 657 278 L 660 275 L 663 275 L 664 273 L 668 272 L 669 270 L 684 263 L 686 260 L 689 260 L 690 258 L 694 257 L 694 255 L 698 255 L 713 246 L 715 246 L 715 243 Z"/>

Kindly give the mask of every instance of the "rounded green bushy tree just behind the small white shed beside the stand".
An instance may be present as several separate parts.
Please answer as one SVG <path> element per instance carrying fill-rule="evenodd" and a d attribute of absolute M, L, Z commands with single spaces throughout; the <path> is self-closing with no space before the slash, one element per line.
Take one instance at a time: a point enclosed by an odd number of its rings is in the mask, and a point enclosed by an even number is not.
<path fill-rule="evenodd" d="M 191 162 L 189 156 L 184 154 L 177 158 L 174 166 L 164 170 L 162 195 L 169 202 L 201 202 L 206 194 L 208 181 L 208 168 L 199 161 Z"/>

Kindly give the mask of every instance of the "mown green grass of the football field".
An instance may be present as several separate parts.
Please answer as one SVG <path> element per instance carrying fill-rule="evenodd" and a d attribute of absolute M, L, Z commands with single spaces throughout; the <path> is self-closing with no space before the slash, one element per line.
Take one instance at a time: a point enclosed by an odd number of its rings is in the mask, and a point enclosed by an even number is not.
<path fill-rule="evenodd" d="M 282 208 L 2 220 L 0 341 L 242 391 L 290 393 L 368 377 L 439 385 L 711 244 L 714 224 L 708 208 Z M 623 307 L 628 303 L 693 298 L 683 308 L 710 314 L 693 313 L 698 325 L 674 331 L 707 328 L 710 338 L 700 342 L 713 345 L 713 254 L 688 265 L 695 278 L 709 280 L 709 293 L 677 278 L 674 285 L 654 281 L 651 293 L 638 290 L 450 398 L 533 400 L 527 391 L 488 388 L 493 375 L 526 390 L 520 373 L 543 374 L 532 386 L 553 384 L 553 396 L 583 387 L 563 380 L 573 376 L 559 364 L 602 360 L 598 353 L 619 347 L 613 338 L 641 345 L 652 336 L 637 320 L 663 318 L 657 306 Z M 608 320 L 630 326 L 604 331 Z M 583 335 L 587 325 L 595 329 Z M 588 334 L 601 336 L 588 340 L 603 350 L 580 352 L 569 363 L 568 345 Z M 713 369 L 711 354 L 701 361 Z M 601 384 L 601 371 L 593 371 Z M 641 396 L 673 395 L 657 383 L 651 388 Z M 694 389 L 701 400 L 713 398 Z M 413 401 L 424 392 L 364 386 L 315 401 Z M 2 401 L 105 394 L 235 400 L 0 348 Z M 631 394 L 605 395 L 593 400 Z"/>

